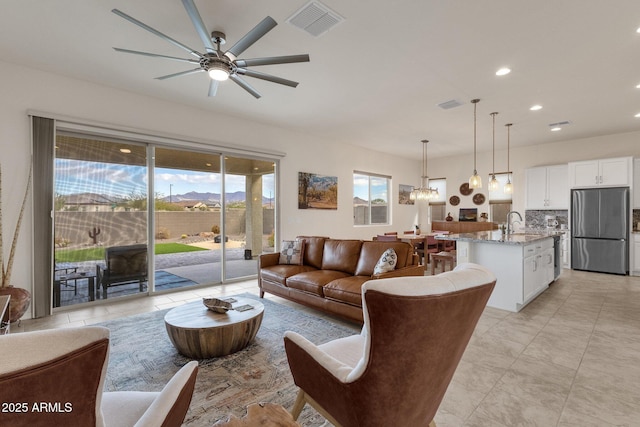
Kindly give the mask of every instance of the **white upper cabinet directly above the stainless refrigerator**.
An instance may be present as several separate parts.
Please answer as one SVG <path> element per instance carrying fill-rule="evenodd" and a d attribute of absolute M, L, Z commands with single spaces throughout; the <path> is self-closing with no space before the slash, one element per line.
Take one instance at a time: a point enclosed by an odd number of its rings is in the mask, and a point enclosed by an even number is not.
<path fill-rule="evenodd" d="M 617 157 L 569 163 L 569 187 L 631 186 L 632 160 Z"/>

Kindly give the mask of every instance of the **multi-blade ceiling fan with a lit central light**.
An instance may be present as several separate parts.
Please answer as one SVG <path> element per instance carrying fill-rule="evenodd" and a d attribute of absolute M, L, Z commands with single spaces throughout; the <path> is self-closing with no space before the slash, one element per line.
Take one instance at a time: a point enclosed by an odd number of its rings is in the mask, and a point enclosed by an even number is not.
<path fill-rule="evenodd" d="M 260 98 L 260 93 L 255 90 L 249 83 L 247 83 L 240 76 L 254 77 L 257 79 L 266 80 L 273 83 L 279 83 L 282 85 L 296 87 L 298 82 L 276 77 L 271 74 L 261 73 L 259 71 L 253 71 L 248 67 L 256 67 L 260 65 L 274 65 L 274 64 L 288 64 L 294 62 L 309 62 L 309 55 L 289 55 L 289 56 L 272 56 L 267 58 L 253 58 L 253 59 L 239 59 L 238 56 L 247 50 L 252 44 L 257 42 L 262 36 L 271 31 L 278 23 L 267 16 L 258 25 L 256 25 L 251 31 L 244 35 L 240 40 L 236 42 L 229 50 L 223 52 L 220 46 L 225 44 L 226 35 L 220 31 L 208 32 L 207 27 L 202 21 L 202 17 L 198 12 L 193 0 L 182 0 L 184 8 L 187 10 L 191 22 L 193 22 L 196 32 L 200 39 L 204 43 L 206 53 L 200 53 L 195 49 L 191 49 L 179 41 L 172 39 L 171 37 L 161 33 L 160 31 L 151 28 L 147 24 L 138 21 L 137 19 L 121 12 L 118 9 L 113 9 L 112 12 L 116 15 L 126 19 L 129 22 L 136 24 L 137 26 L 144 28 L 152 34 L 168 41 L 169 43 L 178 46 L 179 48 L 189 52 L 197 59 L 185 59 L 174 56 L 158 55 L 149 52 L 140 52 L 137 50 L 121 49 L 114 47 L 118 52 L 132 53 L 135 55 L 151 56 L 154 58 L 171 59 L 173 61 L 187 62 L 198 65 L 197 68 L 181 71 L 179 73 L 168 74 L 166 76 L 156 77 L 158 80 L 170 79 L 172 77 L 186 76 L 194 73 L 207 72 L 211 77 L 211 83 L 209 84 L 209 96 L 215 96 L 218 90 L 218 84 L 221 81 L 231 79 L 237 83 L 244 90 L 249 92 L 256 98 Z"/>

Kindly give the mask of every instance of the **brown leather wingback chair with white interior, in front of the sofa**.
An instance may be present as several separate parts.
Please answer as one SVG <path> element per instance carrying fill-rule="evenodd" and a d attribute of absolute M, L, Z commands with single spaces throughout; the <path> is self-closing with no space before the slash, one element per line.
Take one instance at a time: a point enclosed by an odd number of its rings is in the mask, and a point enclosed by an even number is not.
<path fill-rule="evenodd" d="M 495 281 L 469 263 L 437 276 L 371 280 L 362 287 L 359 335 L 316 346 L 286 332 L 300 388 L 293 417 L 309 403 L 335 426 L 434 426 Z"/>

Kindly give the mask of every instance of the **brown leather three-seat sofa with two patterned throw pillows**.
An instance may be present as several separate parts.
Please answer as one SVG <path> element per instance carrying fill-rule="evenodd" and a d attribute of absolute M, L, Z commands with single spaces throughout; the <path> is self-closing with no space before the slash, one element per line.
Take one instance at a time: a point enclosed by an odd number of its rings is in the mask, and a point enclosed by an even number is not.
<path fill-rule="evenodd" d="M 424 266 L 409 243 L 316 236 L 298 239 L 305 240 L 302 265 L 279 264 L 280 253 L 260 255 L 260 297 L 269 292 L 362 323 L 361 288 L 366 281 L 424 275 Z M 395 269 L 373 274 L 388 248 L 393 248 L 398 257 Z"/>

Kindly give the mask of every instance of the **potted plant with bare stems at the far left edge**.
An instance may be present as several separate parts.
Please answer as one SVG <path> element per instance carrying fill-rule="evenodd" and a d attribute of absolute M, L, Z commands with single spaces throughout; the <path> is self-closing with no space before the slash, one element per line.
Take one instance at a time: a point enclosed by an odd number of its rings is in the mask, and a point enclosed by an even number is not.
<path fill-rule="evenodd" d="M 9 301 L 9 321 L 11 323 L 18 321 L 22 316 L 24 316 L 24 313 L 26 313 L 27 309 L 29 308 L 29 304 L 31 303 L 31 293 L 28 290 L 11 285 L 11 270 L 13 268 L 13 259 L 16 252 L 16 245 L 18 244 L 20 225 L 22 224 L 24 207 L 27 204 L 27 195 L 29 194 L 30 187 L 31 169 L 29 169 L 27 189 L 24 192 L 24 199 L 22 200 L 22 206 L 20 207 L 20 214 L 18 215 L 16 228 L 13 232 L 13 240 L 11 241 L 9 257 L 7 258 L 7 263 L 5 264 L 4 249 L 2 245 L 2 168 L 0 167 L 0 295 L 11 296 L 11 299 Z"/>

